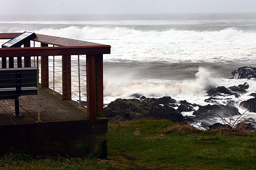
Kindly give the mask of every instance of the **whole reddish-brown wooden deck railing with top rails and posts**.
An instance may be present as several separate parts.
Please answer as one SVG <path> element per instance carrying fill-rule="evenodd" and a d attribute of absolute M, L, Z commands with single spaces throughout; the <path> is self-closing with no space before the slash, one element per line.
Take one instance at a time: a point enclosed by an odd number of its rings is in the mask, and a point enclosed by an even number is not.
<path fill-rule="evenodd" d="M 11 39 L 19 34 L 0 33 L 0 39 Z M 33 41 L 39 42 L 40 47 L 31 47 Z M 40 56 L 41 88 L 48 88 L 48 56 L 62 56 L 62 100 L 71 100 L 71 55 L 86 55 L 87 114 L 91 122 L 96 122 L 97 117 L 103 117 L 103 54 L 110 54 L 110 50 L 110 45 L 36 34 L 24 47 L 0 48 L 0 58 L 5 61 L 9 57 L 12 62 L 12 58 L 17 57 L 17 66 L 21 67 L 24 57 L 24 67 L 31 67 L 31 57 Z"/>

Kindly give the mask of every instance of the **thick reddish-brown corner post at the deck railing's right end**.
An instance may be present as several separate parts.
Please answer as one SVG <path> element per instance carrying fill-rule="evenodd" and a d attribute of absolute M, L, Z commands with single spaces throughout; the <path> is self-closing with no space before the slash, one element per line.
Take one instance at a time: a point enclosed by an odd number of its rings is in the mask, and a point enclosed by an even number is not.
<path fill-rule="evenodd" d="M 103 117 L 103 55 L 86 56 L 87 114 L 91 122 Z"/>

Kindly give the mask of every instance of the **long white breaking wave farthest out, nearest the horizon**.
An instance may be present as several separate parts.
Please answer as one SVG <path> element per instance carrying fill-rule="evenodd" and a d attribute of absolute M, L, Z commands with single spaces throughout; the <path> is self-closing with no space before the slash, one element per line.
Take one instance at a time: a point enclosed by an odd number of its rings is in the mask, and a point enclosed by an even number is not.
<path fill-rule="evenodd" d="M 1 31 L 1 30 L 0 30 Z M 25 30 L 20 30 L 20 32 Z M 146 41 L 172 40 L 255 40 L 256 32 L 241 31 L 236 28 L 227 28 L 220 31 L 141 31 L 129 28 L 109 27 L 66 27 L 61 29 L 43 28 L 34 30 L 36 33 L 55 35 L 75 39 L 131 39 Z"/>

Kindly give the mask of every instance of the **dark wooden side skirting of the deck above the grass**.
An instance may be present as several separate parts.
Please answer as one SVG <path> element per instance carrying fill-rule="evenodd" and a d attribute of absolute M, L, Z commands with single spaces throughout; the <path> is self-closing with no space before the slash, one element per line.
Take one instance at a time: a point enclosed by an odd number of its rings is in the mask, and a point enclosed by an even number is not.
<path fill-rule="evenodd" d="M 106 157 L 108 120 L 35 123 L 0 126 L 0 154 L 25 152 L 33 155 Z"/>

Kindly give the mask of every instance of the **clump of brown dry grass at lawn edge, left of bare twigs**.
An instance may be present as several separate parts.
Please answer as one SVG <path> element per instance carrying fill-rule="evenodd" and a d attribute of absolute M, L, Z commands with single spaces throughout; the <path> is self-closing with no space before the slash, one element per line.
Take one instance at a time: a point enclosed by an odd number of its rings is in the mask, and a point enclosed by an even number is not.
<path fill-rule="evenodd" d="M 164 129 L 164 133 L 174 133 L 174 132 L 198 133 L 199 130 L 193 126 L 182 125 L 182 124 L 174 124 L 173 126 L 169 126 Z"/>

